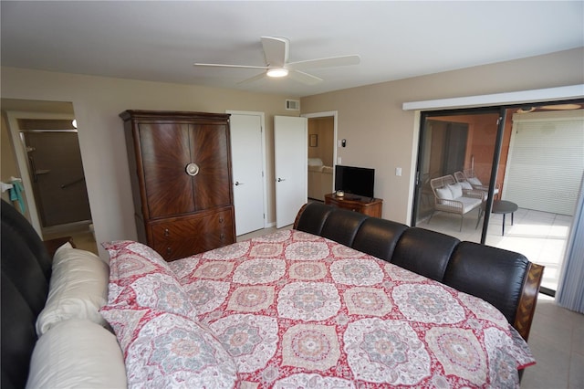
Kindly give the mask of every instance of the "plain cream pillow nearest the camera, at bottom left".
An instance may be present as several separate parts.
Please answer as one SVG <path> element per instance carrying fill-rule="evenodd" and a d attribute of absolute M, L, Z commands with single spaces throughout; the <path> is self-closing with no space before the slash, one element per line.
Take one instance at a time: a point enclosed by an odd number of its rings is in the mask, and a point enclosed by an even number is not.
<path fill-rule="evenodd" d="M 57 323 L 36 342 L 26 388 L 125 388 L 116 336 L 91 321 Z"/>

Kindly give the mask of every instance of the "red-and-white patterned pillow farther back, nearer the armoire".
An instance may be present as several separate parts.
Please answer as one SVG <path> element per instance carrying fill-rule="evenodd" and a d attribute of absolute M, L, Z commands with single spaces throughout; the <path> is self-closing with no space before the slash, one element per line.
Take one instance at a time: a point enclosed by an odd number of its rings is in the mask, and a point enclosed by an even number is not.
<path fill-rule="evenodd" d="M 166 261 L 151 247 L 123 240 L 110 252 L 108 305 L 145 307 L 196 319 L 196 310 Z"/>

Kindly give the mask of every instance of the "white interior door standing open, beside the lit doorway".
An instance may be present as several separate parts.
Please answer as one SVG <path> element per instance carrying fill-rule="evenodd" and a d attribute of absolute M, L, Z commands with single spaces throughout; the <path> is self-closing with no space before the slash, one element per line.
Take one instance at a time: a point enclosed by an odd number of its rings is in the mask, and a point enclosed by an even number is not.
<path fill-rule="evenodd" d="M 308 119 L 274 117 L 276 227 L 294 223 L 308 198 Z"/>

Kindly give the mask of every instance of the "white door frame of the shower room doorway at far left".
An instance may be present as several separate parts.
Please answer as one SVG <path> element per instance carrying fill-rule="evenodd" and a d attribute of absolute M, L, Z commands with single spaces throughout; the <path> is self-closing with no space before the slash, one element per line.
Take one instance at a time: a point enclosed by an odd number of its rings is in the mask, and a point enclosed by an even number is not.
<path fill-rule="evenodd" d="M 22 184 L 25 188 L 26 208 L 28 211 L 30 224 L 35 228 L 39 237 L 43 236 L 43 229 L 40 223 L 40 217 L 36 209 L 35 196 L 33 195 L 33 184 L 28 173 L 28 159 L 26 157 L 25 143 L 20 137 L 20 126 L 18 119 L 52 119 L 52 120 L 70 120 L 75 119 L 72 113 L 51 113 L 51 112 L 30 112 L 24 110 L 9 110 L 6 111 L 6 125 L 8 126 L 8 134 L 10 135 L 10 142 L 12 142 L 13 150 L 16 156 L 16 165 L 22 178 Z M 89 211 L 91 205 L 89 205 Z"/>

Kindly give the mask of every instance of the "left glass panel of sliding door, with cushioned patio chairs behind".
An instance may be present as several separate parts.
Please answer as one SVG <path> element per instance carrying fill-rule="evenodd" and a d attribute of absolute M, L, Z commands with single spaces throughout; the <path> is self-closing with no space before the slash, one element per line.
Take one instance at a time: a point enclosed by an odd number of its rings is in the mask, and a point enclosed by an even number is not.
<path fill-rule="evenodd" d="M 498 120 L 498 109 L 422 113 L 412 224 L 481 241 Z M 504 172 L 505 166 L 498 170 Z M 456 187 L 461 191 L 448 195 Z"/>

